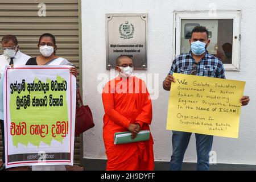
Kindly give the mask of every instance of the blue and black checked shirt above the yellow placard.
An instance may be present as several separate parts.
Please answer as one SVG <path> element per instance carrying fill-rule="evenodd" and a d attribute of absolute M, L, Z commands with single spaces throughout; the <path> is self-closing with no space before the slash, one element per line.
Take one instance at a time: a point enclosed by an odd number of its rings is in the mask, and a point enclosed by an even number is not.
<path fill-rule="evenodd" d="M 172 75 L 173 73 L 191 75 L 192 65 L 194 63 L 196 63 L 196 61 L 193 59 L 191 51 L 189 53 L 181 54 L 175 57 L 172 62 L 169 75 Z M 199 61 L 199 63 L 197 63 L 196 75 L 225 78 L 224 65 L 220 59 L 210 55 L 208 51 L 206 51 L 205 56 Z"/>

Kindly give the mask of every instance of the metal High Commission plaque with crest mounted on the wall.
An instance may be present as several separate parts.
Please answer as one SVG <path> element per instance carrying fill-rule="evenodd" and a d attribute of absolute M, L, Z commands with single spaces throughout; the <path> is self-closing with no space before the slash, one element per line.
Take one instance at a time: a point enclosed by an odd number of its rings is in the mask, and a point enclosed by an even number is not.
<path fill-rule="evenodd" d="M 134 69 L 147 69 L 147 14 L 106 14 L 106 69 L 120 55 L 130 56 Z"/>

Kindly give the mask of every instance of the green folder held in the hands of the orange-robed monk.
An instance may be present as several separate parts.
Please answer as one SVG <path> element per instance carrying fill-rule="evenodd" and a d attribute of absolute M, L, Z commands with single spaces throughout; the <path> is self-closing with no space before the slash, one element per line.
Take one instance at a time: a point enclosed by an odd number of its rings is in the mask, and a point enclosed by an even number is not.
<path fill-rule="evenodd" d="M 114 134 L 114 144 L 123 144 L 123 143 L 132 143 L 132 142 L 141 142 L 150 139 L 150 131 L 149 130 L 141 130 L 137 137 L 131 139 L 131 132 L 117 132 Z"/>

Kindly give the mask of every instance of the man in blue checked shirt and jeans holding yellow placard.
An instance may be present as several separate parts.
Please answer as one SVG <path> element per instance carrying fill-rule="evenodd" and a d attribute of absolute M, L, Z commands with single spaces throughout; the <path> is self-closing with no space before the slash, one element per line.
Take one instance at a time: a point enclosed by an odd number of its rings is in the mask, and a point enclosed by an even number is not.
<path fill-rule="evenodd" d="M 171 89 L 171 82 L 175 82 L 172 74 L 183 73 L 188 75 L 208 76 L 215 78 L 225 78 L 225 71 L 222 61 L 217 57 L 210 55 L 207 46 L 210 43 L 207 28 L 197 26 L 191 32 L 191 51 L 175 57 L 171 65 L 171 70 L 163 81 L 164 90 Z M 239 99 L 239 98 L 238 98 Z M 240 98 L 241 104 L 247 105 L 249 97 Z M 212 135 L 196 135 L 197 150 L 197 170 L 209 170 L 209 152 L 212 150 Z M 188 147 L 191 133 L 172 131 L 172 156 L 170 170 L 181 170 L 185 151 Z"/>

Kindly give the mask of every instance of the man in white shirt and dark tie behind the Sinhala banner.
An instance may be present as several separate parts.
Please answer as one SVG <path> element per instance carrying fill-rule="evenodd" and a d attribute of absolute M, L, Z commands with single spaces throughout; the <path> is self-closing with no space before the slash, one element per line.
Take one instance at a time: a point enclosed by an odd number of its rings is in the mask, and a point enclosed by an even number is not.
<path fill-rule="evenodd" d="M 3 55 L 0 56 L 0 125 L 3 140 L 3 164 L 0 171 L 5 170 L 5 139 L 3 130 L 3 93 L 2 93 L 2 77 L 6 65 L 25 65 L 30 56 L 19 51 L 18 40 L 14 35 L 5 35 L 1 41 Z"/>

